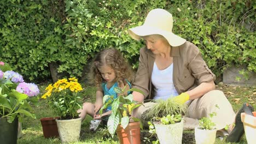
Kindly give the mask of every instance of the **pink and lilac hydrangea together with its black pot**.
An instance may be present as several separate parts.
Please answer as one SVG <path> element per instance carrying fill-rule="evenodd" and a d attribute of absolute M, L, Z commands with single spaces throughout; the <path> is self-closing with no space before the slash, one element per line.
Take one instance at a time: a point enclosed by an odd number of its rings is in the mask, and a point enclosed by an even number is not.
<path fill-rule="evenodd" d="M 38 104 L 39 88 L 34 83 L 26 83 L 23 77 L 11 70 L 7 63 L 0 62 L 0 141 L 16 143 L 18 123 L 24 117 L 36 118 L 31 103 Z"/>

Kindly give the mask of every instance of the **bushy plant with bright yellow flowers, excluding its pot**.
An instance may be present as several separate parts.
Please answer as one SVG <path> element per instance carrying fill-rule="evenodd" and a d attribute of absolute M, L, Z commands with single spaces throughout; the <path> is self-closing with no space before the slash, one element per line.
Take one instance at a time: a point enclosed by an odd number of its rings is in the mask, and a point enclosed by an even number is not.
<path fill-rule="evenodd" d="M 78 118 L 77 110 L 82 109 L 82 98 L 79 92 L 83 88 L 75 77 L 61 79 L 45 88 L 42 99 L 47 99 L 49 106 L 61 119 Z"/>

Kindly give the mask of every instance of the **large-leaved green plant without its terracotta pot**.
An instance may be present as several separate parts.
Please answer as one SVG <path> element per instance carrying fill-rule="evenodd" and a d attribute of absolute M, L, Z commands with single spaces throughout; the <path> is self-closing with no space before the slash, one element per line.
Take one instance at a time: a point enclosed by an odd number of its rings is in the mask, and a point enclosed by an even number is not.
<path fill-rule="evenodd" d="M 137 101 L 133 101 L 133 95 L 129 94 L 126 96 L 127 92 L 136 91 L 142 93 L 139 89 L 131 88 L 127 91 L 121 89 L 120 87 L 115 87 L 114 91 L 119 95 L 116 99 L 114 99 L 114 95 L 104 95 L 103 97 L 103 106 L 100 110 L 100 114 L 102 114 L 104 109 L 107 109 L 108 106 L 112 106 L 112 113 L 108 119 L 108 131 L 110 135 L 113 137 L 115 134 L 115 130 L 117 130 L 118 124 L 121 124 L 125 129 L 132 118 L 133 121 L 138 122 L 138 118 L 129 117 L 129 113 L 132 112 L 133 109 L 136 109 L 138 106 L 141 106 L 142 103 L 138 103 Z M 141 124 L 142 128 L 142 124 Z"/>

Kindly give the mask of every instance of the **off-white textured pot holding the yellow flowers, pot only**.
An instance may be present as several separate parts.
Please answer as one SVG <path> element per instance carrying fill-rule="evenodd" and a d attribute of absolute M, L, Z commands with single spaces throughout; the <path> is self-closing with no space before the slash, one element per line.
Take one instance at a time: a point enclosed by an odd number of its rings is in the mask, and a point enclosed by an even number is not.
<path fill-rule="evenodd" d="M 62 143 L 79 141 L 82 118 L 56 119 Z"/>

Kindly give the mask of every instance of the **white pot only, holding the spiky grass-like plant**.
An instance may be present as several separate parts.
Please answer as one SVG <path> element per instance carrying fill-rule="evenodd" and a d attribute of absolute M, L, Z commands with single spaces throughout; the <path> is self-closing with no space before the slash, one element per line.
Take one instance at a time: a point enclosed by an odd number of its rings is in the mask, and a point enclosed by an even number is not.
<path fill-rule="evenodd" d="M 179 144 L 182 143 L 183 119 L 174 124 L 156 124 L 154 123 L 156 134 L 161 144 Z"/>

